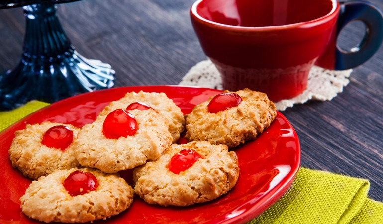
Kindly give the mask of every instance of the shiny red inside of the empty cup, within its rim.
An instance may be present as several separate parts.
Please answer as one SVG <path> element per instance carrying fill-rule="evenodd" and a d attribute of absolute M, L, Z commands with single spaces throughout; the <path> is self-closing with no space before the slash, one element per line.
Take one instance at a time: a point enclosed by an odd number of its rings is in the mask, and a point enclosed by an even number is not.
<path fill-rule="evenodd" d="M 196 13 L 211 22 L 243 27 L 283 26 L 318 19 L 335 0 L 199 0 Z"/>

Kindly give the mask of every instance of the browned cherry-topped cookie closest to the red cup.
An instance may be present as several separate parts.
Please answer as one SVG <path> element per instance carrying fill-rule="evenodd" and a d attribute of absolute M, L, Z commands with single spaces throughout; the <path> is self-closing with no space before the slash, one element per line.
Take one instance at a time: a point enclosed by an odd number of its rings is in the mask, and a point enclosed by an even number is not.
<path fill-rule="evenodd" d="M 196 105 L 186 115 L 185 138 L 233 148 L 255 139 L 276 115 L 276 107 L 266 94 L 247 88 L 237 92 L 226 90 Z"/>

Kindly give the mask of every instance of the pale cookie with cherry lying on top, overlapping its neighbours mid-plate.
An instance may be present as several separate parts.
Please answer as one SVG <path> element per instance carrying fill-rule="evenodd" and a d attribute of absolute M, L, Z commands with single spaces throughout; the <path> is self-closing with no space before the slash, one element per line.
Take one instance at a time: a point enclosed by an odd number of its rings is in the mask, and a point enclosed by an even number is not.
<path fill-rule="evenodd" d="M 116 109 L 81 129 L 75 153 L 82 166 L 115 173 L 157 159 L 171 142 L 165 119 L 153 109 Z"/>

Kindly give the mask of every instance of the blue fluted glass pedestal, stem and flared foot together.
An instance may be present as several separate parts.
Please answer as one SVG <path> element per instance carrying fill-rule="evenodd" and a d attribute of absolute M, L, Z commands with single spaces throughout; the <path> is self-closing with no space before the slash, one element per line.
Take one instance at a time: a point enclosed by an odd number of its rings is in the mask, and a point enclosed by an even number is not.
<path fill-rule="evenodd" d="M 69 42 L 53 4 L 24 6 L 26 31 L 18 66 L 0 74 L 0 109 L 30 100 L 55 102 L 84 92 L 110 88 L 109 64 L 86 59 Z"/>

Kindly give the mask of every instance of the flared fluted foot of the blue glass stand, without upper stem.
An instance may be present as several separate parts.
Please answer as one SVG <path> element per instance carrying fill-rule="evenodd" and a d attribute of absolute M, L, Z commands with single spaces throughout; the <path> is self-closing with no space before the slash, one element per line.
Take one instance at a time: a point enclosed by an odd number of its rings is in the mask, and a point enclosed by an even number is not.
<path fill-rule="evenodd" d="M 12 109 L 30 100 L 55 102 L 70 96 L 110 88 L 114 70 L 86 59 L 72 48 L 56 58 L 24 58 L 0 75 L 0 107 Z"/>

